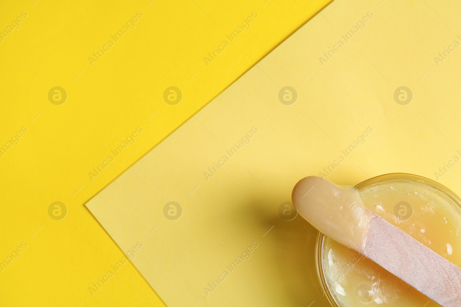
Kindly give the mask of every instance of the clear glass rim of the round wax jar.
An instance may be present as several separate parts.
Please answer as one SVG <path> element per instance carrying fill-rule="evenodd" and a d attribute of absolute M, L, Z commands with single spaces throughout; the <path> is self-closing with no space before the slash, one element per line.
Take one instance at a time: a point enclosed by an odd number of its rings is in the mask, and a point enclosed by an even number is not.
<path fill-rule="evenodd" d="M 379 175 L 376 177 L 372 177 L 370 179 L 364 180 L 361 183 L 355 185 L 355 188 L 357 190 L 361 190 L 367 186 L 377 184 L 379 182 L 383 182 L 386 180 L 413 180 L 413 181 L 418 181 L 422 182 L 426 185 L 430 185 L 437 190 L 443 192 L 446 194 L 448 197 L 450 197 L 460 208 L 461 208 L 461 199 L 458 197 L 453 191 L 449 190 L 446 186 L 438 183 L 437 181 L 431 180 L 426 177 L 422 177 L 419 175 L 414 175 L 414 174 L 407 174 L 407 173 L 390 173 L 390 174 L 384 174 L 384 175 Z M 328 298 L 328 301 L 330 301 L 331 306 L 333 307 L 341 307 L 338 302 L 336 301 L 335 296 L 331 292 L 331 289 L 326 281 L 325 277 L 325 267 L 323 265 L 323 247 L 325 243 L 325 238 L 326 236 L 319 232 L 317 236 L 317 248 L 316 248 L 316 266 L 317 266 L 317 276 L 319 277 L 319 281 L 321 284 L 321 290 L 323 293 L 326 295 Z"/>

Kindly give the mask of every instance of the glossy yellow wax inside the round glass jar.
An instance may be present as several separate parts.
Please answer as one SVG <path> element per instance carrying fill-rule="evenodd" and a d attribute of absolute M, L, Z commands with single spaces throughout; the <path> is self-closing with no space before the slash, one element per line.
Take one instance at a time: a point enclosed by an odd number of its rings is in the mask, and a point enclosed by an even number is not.
<path fill-rule="evenodd" d="M 413 180 L 386 180 L 359 193 L 366 208 L 450 262 L 461 265 L 461 208 L 442 191 Z M 439 306 L 330 237 L 325 237 L 322 261 L 326 282 L 341 307 Z"/>

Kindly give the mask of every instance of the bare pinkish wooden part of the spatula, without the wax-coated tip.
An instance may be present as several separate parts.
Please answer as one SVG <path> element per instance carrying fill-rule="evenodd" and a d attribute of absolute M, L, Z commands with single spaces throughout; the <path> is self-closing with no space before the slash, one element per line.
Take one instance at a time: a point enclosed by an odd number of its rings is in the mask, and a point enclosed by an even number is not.
<path fill-rule="evenodd" d="M 443 307 L 461 307 L 461 269 L 370 211 L 363 255 Z"/>

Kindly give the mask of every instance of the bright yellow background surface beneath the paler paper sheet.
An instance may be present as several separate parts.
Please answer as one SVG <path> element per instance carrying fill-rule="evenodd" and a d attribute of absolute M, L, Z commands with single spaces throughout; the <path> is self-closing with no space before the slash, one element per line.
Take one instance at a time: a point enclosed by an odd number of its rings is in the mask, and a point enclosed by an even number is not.
<path fill-rule="evenodd" d="M 311 3 L 4 3 L 0 29 L 6 29 L 21 12 L 27 17 L 0 42 L 0 144 L 6 145 L 21 127 L 26 127 L 27 133 L 0 157 L 0 259 L 6 260 L 21 242 L 28 247 L 0 273 L 2 303 L 163 306 L 130 263 L 90 295 L 88 288 L 123 257 L 123 252 L 83 203 L 326 1 Z M 93 52 L 136 12 L 143 14 L 136 27 L 90 65 L 88 58 Z M 251 28 L 206 66 L 203 57 L 251 12 L 258 13 Z M 172 85 L 183 92 L 183 100 L 176 106 L 162 98 L 165 88 Z M 48 91 L 54 86 L 67 92 L 62 105 L 48 101 Z M 92 168 L 136 127 L 143 129 L 136 143 L 92 181 L 88 174 Z M 48 206 L 55 201 L 67 207 L 64 220 L 48 216 Z"/>

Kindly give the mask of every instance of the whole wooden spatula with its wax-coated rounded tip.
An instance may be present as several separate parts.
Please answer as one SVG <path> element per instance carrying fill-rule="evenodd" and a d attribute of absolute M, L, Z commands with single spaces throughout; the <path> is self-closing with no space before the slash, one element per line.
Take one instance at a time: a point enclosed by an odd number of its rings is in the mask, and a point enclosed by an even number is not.
<path fill-rule="evenodd" d="M 292 201 L 320 232 L 355 249 L 443 307 L 461 307 L 461 269 L 366 208 L 353 186 L 316 176 Z"/>

